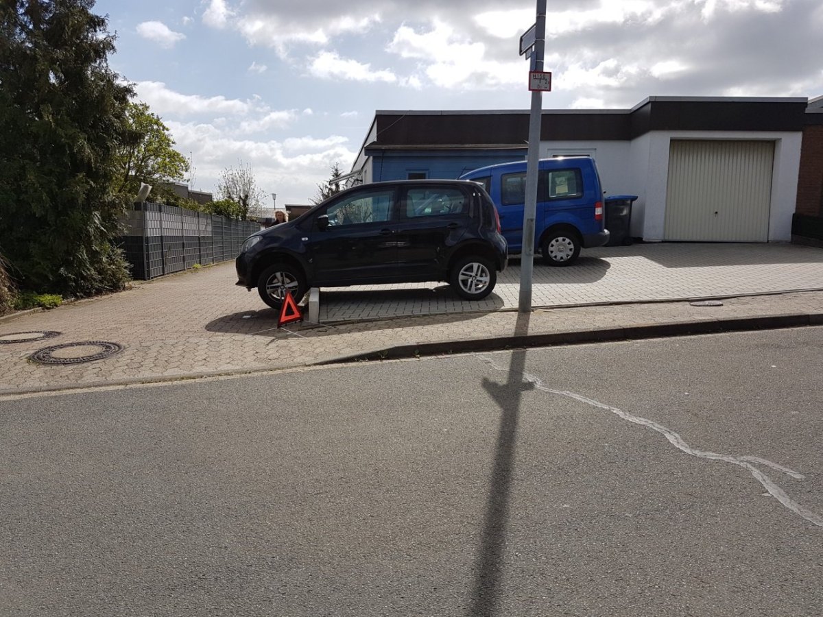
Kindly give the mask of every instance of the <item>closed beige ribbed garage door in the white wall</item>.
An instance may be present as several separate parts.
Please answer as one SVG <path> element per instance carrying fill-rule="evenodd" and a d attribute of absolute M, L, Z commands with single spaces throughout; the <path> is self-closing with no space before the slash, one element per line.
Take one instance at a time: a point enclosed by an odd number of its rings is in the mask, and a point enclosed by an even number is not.
<path fill-rule="evenodd" d="M 774 141 L 672 140 L 664 239 L 768 242 Z"/>

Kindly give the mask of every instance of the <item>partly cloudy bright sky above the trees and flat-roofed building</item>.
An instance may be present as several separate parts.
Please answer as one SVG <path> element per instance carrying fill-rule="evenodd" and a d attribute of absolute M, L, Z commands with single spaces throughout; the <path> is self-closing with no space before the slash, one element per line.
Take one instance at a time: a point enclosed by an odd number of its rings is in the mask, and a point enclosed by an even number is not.
<path fill-rule="evenodd" d="M 264 206 L 351 169 L 376 109 L 528 109 L 527 0 L 98 0 L 109 65 L 193 163 L 251 169 Z M 649 96 L 823 95 L 820 0 L 548 0 L 543 109 Z"/>

